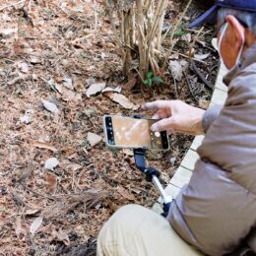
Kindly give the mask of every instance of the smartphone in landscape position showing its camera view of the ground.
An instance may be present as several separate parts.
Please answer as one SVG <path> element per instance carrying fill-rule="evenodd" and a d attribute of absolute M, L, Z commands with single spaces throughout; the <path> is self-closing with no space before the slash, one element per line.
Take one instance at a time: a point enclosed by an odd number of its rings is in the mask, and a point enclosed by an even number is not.
<path fill-rule="evenodd" d="M 104 115 L 105 142 L 113 148 L 168 150 L 166 131 L 153 132 L 150 129 L 156 122 L 156 119 Z"/>

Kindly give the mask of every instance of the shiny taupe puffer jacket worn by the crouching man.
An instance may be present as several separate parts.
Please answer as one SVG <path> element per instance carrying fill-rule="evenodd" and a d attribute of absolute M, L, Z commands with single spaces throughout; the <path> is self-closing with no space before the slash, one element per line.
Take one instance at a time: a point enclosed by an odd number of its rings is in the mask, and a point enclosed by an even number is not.
<path fill-rule="evenodd" d="M 255 81 L 256 63 L 229 84 L 219 115 L 216 107 L 206 112 L 200 159 L 167 217 L 184 240 L 209 255 L 230 253 L 246 238 L 255 249 Z"/>

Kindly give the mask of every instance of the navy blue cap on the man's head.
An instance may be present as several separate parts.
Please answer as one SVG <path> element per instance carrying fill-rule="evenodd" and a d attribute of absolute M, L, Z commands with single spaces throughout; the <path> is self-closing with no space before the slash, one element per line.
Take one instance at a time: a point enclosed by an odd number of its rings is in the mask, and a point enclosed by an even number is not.
<path fill-rule="evenodd" d="M 212 24 L 216 23 L 218 11 L 222 7 L 241 11 L 256 12 L 256 0 L 216 0 L 215 5 L 210 10 L 189 25 L 189 29 L 206 22 L 210 22 Z"/>

